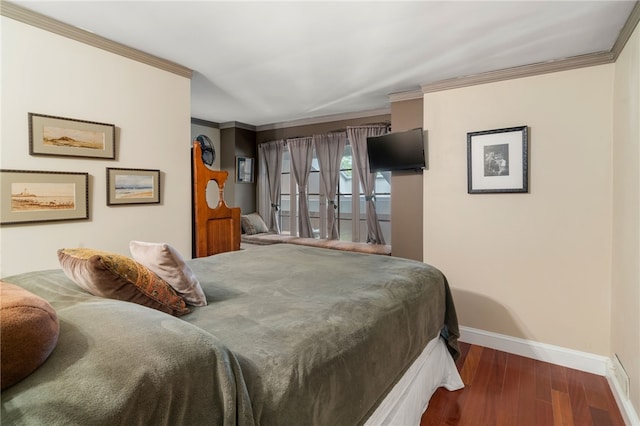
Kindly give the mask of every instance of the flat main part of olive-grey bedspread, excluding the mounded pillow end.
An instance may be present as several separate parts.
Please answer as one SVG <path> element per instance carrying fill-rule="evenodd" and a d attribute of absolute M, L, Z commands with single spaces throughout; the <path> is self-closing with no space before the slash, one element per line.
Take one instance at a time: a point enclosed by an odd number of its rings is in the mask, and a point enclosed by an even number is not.
<path fill-rule="evenodd" d="M 444 324 L 457 356 L 448 284 L 424 263 L 276 244 L 190 266 L 209 307 L 183 319 L 236 354 L 258 424 L 364 422 Z"/>

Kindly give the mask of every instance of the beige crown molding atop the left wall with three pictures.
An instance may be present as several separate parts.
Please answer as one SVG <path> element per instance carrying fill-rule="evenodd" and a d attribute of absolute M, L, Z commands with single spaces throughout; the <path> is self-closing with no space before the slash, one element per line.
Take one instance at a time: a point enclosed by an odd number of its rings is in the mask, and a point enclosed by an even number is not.
<path fill-rule="evenodd" d="M 124 56 L 125 58 L 133 59 L 134 61 L 138 61 L 143 64 L 151 65 L 152 67 L 159 68 L 182 77 L 190 79 L 193 74 L 192 70 L 176 64 L 175 62 L 150 55 L 132 47 L 125 46 L 124 44 L 116 43 L 115 41 L 111 41 L 89 31 L 76 28 L 72 25 L 65 24 L 64 22 L 60 22 L 56 19 L 49 18 L 48 16 L 25 9 L 11 2 L 4 0 L 0 2 L 0 15 L 102 50 L 106 50 L 107 52 Z"/>

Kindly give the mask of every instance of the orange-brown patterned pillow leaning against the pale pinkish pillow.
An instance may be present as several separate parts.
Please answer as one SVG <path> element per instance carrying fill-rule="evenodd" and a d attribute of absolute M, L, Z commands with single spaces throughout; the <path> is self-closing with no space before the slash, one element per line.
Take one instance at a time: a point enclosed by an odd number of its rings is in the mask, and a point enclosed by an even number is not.
<path fill-rule="evenodd" d="M 76 248 L 58 250 L 58 260 L 69 278 L 95 296 L 125 300 L 175 316 L 189 312 L 169 284 L 129 257 Z"/>

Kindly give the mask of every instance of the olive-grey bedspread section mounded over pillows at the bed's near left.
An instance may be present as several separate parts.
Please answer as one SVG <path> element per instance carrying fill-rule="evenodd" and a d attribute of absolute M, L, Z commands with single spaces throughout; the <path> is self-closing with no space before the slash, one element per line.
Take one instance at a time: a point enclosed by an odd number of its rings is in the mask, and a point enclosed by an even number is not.
<path fill-rule="evenodd" d="M 2 425 L 253 424 L 236 358 L 163 312 L 92 296 L 62 270 L 4 278 L 45 298 L 60 321 L 43 365 L 2 391 Z"/>

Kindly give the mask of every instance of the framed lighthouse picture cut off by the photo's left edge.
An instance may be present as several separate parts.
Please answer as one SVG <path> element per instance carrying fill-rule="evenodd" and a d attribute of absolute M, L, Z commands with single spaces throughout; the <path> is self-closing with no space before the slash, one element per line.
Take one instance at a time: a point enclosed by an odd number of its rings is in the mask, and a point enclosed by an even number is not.
<path fill-rule="evenodd" d="M 89 174 L 0 170 L 0 224 L 89 218 Z"/>

